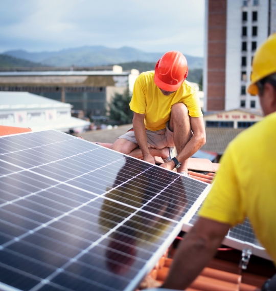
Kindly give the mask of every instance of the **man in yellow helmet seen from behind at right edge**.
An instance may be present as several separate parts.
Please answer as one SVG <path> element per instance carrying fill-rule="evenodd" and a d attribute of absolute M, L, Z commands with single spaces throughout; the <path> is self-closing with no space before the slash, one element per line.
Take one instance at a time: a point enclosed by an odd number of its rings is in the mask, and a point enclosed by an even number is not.
<path fill-rule="evenodd" d="M 163 288 L 188 287 L 217 252 L 229 227 L 247 216 L 276 263 L 276 34 L 257 50 L 247 91 L 266 116 L 226 149 L 199 219 L 180 243 Z M 276 290 L 276 278 L 267 290 Z"/>

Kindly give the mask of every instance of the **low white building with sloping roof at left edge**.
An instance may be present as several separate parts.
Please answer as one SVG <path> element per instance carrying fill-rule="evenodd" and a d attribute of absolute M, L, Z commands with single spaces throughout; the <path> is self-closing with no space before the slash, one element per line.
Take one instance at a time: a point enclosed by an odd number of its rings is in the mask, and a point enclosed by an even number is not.
<path fill-rule="evenodd" d="M 71 105 L 28 92 L 0 92 L 0 125 L 81 133 L 90 122 L 71 116 Z"/>

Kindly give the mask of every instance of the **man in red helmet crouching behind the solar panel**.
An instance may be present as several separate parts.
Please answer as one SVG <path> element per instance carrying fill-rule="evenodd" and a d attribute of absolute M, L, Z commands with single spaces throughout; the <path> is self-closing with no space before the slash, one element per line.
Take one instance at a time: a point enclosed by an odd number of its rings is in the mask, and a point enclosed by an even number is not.
<path fill-rule="evenodd" d="M 199 98 L 187 75 L 187 60 L 177 51 L 164 54 L 155 71 L 142 73 L 130 101 L 133 131 L 120 136 L 111 149 L 153 164 L 154 156 L 162 157 L 161 167 L 188 176 L 188 158 L 205 143 L 205 128 Z"/>

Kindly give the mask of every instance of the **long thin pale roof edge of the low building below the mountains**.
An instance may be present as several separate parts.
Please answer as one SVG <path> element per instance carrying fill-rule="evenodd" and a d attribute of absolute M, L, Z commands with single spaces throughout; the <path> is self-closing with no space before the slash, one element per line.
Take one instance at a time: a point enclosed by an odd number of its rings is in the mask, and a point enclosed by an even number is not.
<path fill-rule="evenodd" d="M 0 72 L 0 76 L 124 76 L 129 72 L 114 71 L 36 71 L 36 72 Z"/>

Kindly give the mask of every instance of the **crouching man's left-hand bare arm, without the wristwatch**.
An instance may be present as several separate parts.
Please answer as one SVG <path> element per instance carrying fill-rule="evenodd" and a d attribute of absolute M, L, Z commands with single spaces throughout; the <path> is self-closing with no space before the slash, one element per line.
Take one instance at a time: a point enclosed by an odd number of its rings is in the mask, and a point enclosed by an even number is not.
<path fill-rule="evenodd" d="M 145 114 L 139 114 L 139 113 L 134 112 L 134 116 L 133 116 L 133 120 L 132 120 L 134 134 L 135 134 L 135 138 L 139 144 L 139 147 L 142 151 L 144 161 L 155 164 L 154 158 L 150 154 L 149 148 L 148 148 L 148 141 L 147 141 L 147 134 L 146 134 L 144 118 L 145 118 Z"/>

